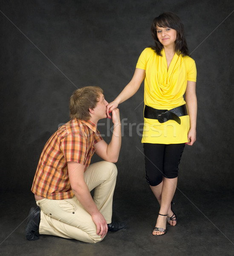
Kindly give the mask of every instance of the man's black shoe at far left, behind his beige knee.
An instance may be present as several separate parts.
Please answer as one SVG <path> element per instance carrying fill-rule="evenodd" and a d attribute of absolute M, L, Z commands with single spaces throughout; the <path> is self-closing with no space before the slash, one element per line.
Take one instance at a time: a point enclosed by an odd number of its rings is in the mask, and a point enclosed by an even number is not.
<path fill-rule="evenodd" d="M 40 224 L 40 208 L 36 209 L 32 207 L 29 211 L 28 222 L 24 228 L 24 233 L 26 239 L 28 240 L 37 240 L 38 236 L 35 235 L 35 232 L 39 229 Z"/>

